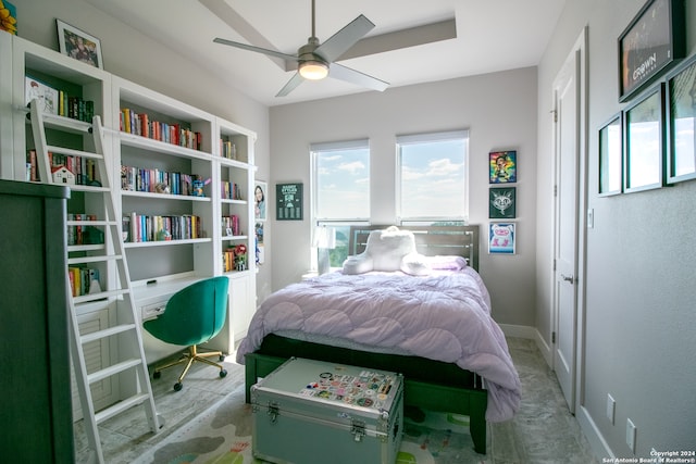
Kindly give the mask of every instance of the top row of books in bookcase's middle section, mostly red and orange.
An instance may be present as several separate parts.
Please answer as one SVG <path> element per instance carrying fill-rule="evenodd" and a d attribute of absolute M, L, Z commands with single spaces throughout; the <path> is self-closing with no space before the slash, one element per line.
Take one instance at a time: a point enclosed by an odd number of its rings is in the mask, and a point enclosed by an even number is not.
<path fill-rule="evenodd" d="M 178 123 L 153 121 L 147 113 L 136 113 L 128 108 L 121 109 L 121 130 L 192 150 L 200 150 L 203 141 L 201 133 Z"/>

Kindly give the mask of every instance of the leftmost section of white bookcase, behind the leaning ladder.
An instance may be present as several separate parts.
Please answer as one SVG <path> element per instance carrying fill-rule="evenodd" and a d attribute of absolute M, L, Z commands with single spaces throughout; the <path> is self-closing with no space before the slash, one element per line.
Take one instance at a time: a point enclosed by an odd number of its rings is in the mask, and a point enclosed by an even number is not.
<path fill-rule="evenodd" d="M 0 34 L 5 36 L 5 34 Z M 11 160 L 3 159 L 3 175 L 7 170 L 11 170 L 11 177 L 15 180 L 27 178 L 26 153 L 36 148 L 32 128 L 29 124 L 28 109 L 25 101 L 25 77 L 36 78 L 55 89 L 69 92 L 71 96 L 82 97 L 95 102 L 95 114 L 99 115 L 104 124 L 113 124 L 111 121 L 111 75 L 86 64 L 76 62 L 55 51 L 48 50 L 20 37 L 12 37 L 12 146 Z M 4 79 L 3 79 L 4 80 Z M 26 111 L 25 111 L 26 110 Z M 5 110 L 3 110 L 3 113 Z M 1 116 L 4 118 L 7 115 Z M 58 124 L 51 124 L 52 120 Z M 71 147 L 76 150 L 94 150 L 91 136 L 85 131 L 86 123 L 66 117 L 47 115 L 46 137 L 49 143 Z M 4 145 L 5 142 L 3 142 Z M 3 158 L 8 153 L 3 147 Z M 105 153 L 107 167 L 113 171 L 110 165 L 111 155 Z M 7 170 L 5 170 L 7 168 Z M 104 217 L 104 204 L 101 199 L 96 200 L 92 196 L 73 188 L 71 199 L 67 201 L 69 214 L 94 214 L 97 217 Z M 74 223 L 67 223 L 67 227 L 75 227 Z M 90 224 L 91 227 L 104 230 L 99 224 Z M 86 225 L 85 225 L 86 227 Z M 104 241 L 108 243 L 108 240 Z M 69 259 L 79 255 L 88 255 L 95 251 L 95 244 L 69 244 Z M 104 244 L 101 246 L 103 249 Z M 115 267 L 112 264 L 100 264 L 97 266 L 100 273 L 100 285 L 103 289 L 114 288 L 116 276 Z M 61 278 L 63 276 L 60 276 Z M 78 304 L 76 309 L 77 319 L 83 335 L 97 331 L 110 326 L 116 321 L 115 298 L 109 298 L 98 302 Z M 99 371 L 104 366 L 113 364 L 117 359 L 117 341 L 114 339 L 96 340 L 85 347 L 86 365 L 88 373 Z M 79 399 L 77 396 L 76 383 L 73 376 L 73 413 L 75 418 L 82 417 Z M 114 378 L 104 378 L 91 386 L 91 396 L 96 409 L 105 407 L 121 396 L 120 383 Z"/>

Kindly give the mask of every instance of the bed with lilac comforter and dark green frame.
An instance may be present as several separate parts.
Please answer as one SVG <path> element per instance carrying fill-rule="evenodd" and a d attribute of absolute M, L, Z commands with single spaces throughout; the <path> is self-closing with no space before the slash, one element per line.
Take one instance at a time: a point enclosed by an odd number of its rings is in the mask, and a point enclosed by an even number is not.
<path fill-rule="evenodd" d="M 350 254 L 364 256 L 370 234 L 385 227 L 351 227 Z M 517 412 L 520 380 L 476 272 L 478 227 L 403 229 L 412 233 L 414 255 L 427 264 L 423 275 L 334 272 L 266 298 L 237 350 L 237 361 L 246 365 L 246 400 L 259 378 L 291 356 L 399 372 L 407 407 L 468 415 L 474 449 L 485 454 L 486 421 L 506 421 Z M 397 289 L 396 303 L 382 293 L 388 288 Z M 442 321 L 440 312 L 447 314 Z M 430 326 L 436 314 L 439 325 Z"/>

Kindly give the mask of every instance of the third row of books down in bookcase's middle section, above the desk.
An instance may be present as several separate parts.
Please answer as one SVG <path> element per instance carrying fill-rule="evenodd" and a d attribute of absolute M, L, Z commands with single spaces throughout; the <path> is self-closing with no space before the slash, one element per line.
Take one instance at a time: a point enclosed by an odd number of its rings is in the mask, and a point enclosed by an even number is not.
<path fill-rule="evenodd" d="M 123 215 L 123 241 L 145 242 L 203 238 L 200 216 Z"/>

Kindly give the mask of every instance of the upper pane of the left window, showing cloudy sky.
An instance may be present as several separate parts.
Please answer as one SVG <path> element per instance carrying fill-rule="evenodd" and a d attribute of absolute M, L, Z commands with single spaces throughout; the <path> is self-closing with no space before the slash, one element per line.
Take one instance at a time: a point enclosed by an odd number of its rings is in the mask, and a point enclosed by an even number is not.
<path fill-rule="evenodd" d="M 315 220 L 370 217 L 370 150 L 314 152 Z"/>

